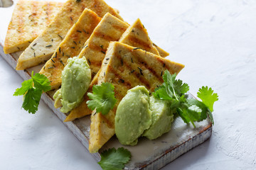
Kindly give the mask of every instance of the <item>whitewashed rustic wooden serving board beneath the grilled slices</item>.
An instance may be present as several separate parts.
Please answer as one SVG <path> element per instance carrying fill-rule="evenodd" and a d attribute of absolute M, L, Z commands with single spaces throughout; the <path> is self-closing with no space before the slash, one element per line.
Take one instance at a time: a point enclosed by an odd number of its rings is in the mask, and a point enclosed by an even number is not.
<path fill-rule="evenodd" d="M 18 56 L 21 55 L 21 52 L 6 55 L 3 50 L 4 38 L 10 21 L 9 19 L 11 19 L 12 10 L 13 8 L 0 8 L 0 15 L 5 15 L 6 18 L 0 21 L 0 55 L 15 69 Z M 23 79 L 31 79 L 31 72 L 39 72 L 41 67 L 43 67 L 43 65 L 16 72 Z M 42 99 L 46 105 L 51 108 L 53 113 L 63 121 L 67 115 L 61 113 L 59 109 L 54 108 L 53 94 L 54 91 L 43 94 Z M 66 125 L 68 129 L 73 132 L 75 137 L 82 142 L 82 145 L 88 149 L 90 115 L 85 116 L 85 118 L 74 120 L 73 122 L 63 122 L 63 124 Z M 112 139 L 100 149 L 100 152 L 112 147 L 124 147 L 129 149 L 132 153 L 132 160 L 126 164 L 124 169 L 161 169 L 161 167 L 169 164 L 169 162 L 172 162 L 177 157 L 193 149 L 193 147 L 208 140 L 212 133 L 210 120 L 207 119 L 200 123 L 196 123 L 196 127 L 197 128 L 193 128 L 192 125 L 186 125 L 181 118 L 176 118 L 171 126 L 170 132 L 156 140 L 147 140 L 145 137 L 141 137 L 137 146 L 129 147 L 119 144 L 117 138 L 112 137 Z M 97 162 L 100 161 L 100 152 L 92 154 Z"/>

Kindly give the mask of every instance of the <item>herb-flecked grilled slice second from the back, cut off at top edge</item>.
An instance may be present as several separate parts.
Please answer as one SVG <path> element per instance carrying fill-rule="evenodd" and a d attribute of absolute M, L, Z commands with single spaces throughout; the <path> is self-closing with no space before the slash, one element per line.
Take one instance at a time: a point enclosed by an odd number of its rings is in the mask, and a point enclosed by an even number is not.
<path fill-rule="evenodd" d="M 50 59 L 60 42 L 65 38 L 68 30 L 78 20 L 82 11 L 90 8 L 98 16 L 103 17 L 105 13 L 112 13 L 117 18 L 122 19 L 119 14 L 103 0 L 68 0 L 56 14 L 53 21 L 18 58 L 17 70 L 33 67 L 41 62 Z M 33 45 L 36 44 L 34 47 Z M 33 49 L 32 49 L 32 48 Z"/>

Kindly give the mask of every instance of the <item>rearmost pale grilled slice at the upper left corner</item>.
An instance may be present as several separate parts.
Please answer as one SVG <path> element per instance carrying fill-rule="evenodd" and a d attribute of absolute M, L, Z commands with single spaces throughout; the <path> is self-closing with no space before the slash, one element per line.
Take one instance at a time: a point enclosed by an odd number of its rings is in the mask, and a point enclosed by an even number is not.
<path fill-rule="evenodd" d="M 14 8 L 4 41 L 4 52 L 25 50 L 53 21 L 62 2 L 19 0 Z"/>

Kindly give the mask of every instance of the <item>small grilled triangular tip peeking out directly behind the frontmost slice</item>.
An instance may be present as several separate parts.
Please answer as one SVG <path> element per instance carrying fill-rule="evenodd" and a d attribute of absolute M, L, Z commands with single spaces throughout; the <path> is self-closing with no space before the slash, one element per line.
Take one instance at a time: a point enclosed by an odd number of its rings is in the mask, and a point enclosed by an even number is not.
<path fill-rule="evenodd" d="M 123 33 L 119 42 L 130 45 L 132 47 L 139 47 L 147 52 L 152 52 L 155 55 L 159 55 L 158 50 L 153 45 L 153 42 L 149 38 L 149 34 L 144 28 L 142 21 L 137 19 L 132 26 L 129 26 Z"/>

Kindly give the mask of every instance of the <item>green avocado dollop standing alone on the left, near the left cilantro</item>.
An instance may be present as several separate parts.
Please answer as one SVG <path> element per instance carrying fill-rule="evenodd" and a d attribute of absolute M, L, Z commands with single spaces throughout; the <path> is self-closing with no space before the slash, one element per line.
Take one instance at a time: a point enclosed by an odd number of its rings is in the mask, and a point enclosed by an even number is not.
<path fill-rule="evenodd" d="M 85 57 L 72 57 L 62 72 L 61 88 L 55 92 L 55 108 L 60 108 L 63 113 L 68 113 L 77 107 L 83 99 L 91 80 L 90 67 Z M 61 104 L 60 104 L 61 103 Z"/>

